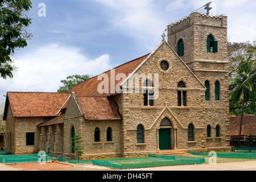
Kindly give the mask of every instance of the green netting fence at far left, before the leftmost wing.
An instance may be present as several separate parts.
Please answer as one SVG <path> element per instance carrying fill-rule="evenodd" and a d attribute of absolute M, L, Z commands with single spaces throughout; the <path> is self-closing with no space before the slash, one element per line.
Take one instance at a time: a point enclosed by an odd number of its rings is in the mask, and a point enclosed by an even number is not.
<path fill-rule="evenodd" d="M 1 151 L 0 163 L 5 164 L 18 164 L 18 163 L 38 163 L 48 162 L 50 160 L 59 160 L 59 158 L 53 158 L 52 154 L 45 153 L 45 155 L 38 154 L 22 154 L 22 155 L 10 155 L 9 152 Z"/>

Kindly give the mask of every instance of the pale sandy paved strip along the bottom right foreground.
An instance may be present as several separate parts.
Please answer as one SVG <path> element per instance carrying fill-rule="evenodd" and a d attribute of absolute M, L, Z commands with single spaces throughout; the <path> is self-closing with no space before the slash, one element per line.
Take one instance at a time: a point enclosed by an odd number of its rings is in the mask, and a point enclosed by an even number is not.
<path fill-rule="evenodd" d="M 150 168 L 127 169 L 129 171 L 256 171 L 256 160 L 243 162 L 193 164 L 180 166 L 160 166 Z"/>

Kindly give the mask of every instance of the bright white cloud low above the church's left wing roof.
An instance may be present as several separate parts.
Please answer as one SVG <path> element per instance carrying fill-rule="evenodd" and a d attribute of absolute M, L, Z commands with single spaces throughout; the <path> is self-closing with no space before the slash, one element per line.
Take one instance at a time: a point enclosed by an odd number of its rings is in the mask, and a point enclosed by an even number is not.
<path fill-rule="evenodd" d="M 60 80 L 69 75 L 93 75 L 113 68 L 108 54 L 88 59 L 76 47 L 64 47 L 56 44 L 42 46 L 15 60 L 18 67 L 13 79 L 0 82 L 0 101 L 7 91 L 16 92 L 57 92 L 63 86 Z"/>

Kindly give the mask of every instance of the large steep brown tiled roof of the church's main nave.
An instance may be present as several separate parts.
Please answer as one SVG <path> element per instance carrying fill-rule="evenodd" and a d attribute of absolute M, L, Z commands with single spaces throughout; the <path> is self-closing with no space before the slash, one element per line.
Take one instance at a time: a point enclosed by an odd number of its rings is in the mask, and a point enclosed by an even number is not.
<path fill-rule="evenodd" d="M 132 73 L 138 67 L 138 65 L 141 64 L 142 61 L 147 58 L 148 55 L 149 54 L 113 68 L 115 71 L 115 76 L 118 73 L 124 73 L 128 77 L 129 73 Z M 97 80 L 98 76 L 94 76 L 89 80 L 86 80 L 84 82 L 81 82 L 80 84 L 77 84 L 69 92 L 75 92 L 76 96 L 111 96 L 111 95 L 117 94 L 117 93 L 110 93 L 110 89 L 111 89 L 110 88 L 110 70 L 105 73 L 109 77 L 109 93 L 102 93 L 102 94 L 98 93 L 98 90 L 97 90 L 98 84 L 102 81 L 102 80 Z M 115 80 L 115 85 L 118 84 L 118 82 L 120 82 L 120 80 Z"/>

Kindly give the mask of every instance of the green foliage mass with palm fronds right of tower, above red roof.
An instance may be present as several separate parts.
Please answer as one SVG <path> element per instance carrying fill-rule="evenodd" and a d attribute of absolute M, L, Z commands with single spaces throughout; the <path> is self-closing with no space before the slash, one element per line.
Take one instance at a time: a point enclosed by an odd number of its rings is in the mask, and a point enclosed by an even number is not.
<path fill-rule="evenodd" d="M 233 51 L 229 52 L 230 115 L 256 114 L 256 47 L 249 43 L 233 43 L 230 49 Z"/>

